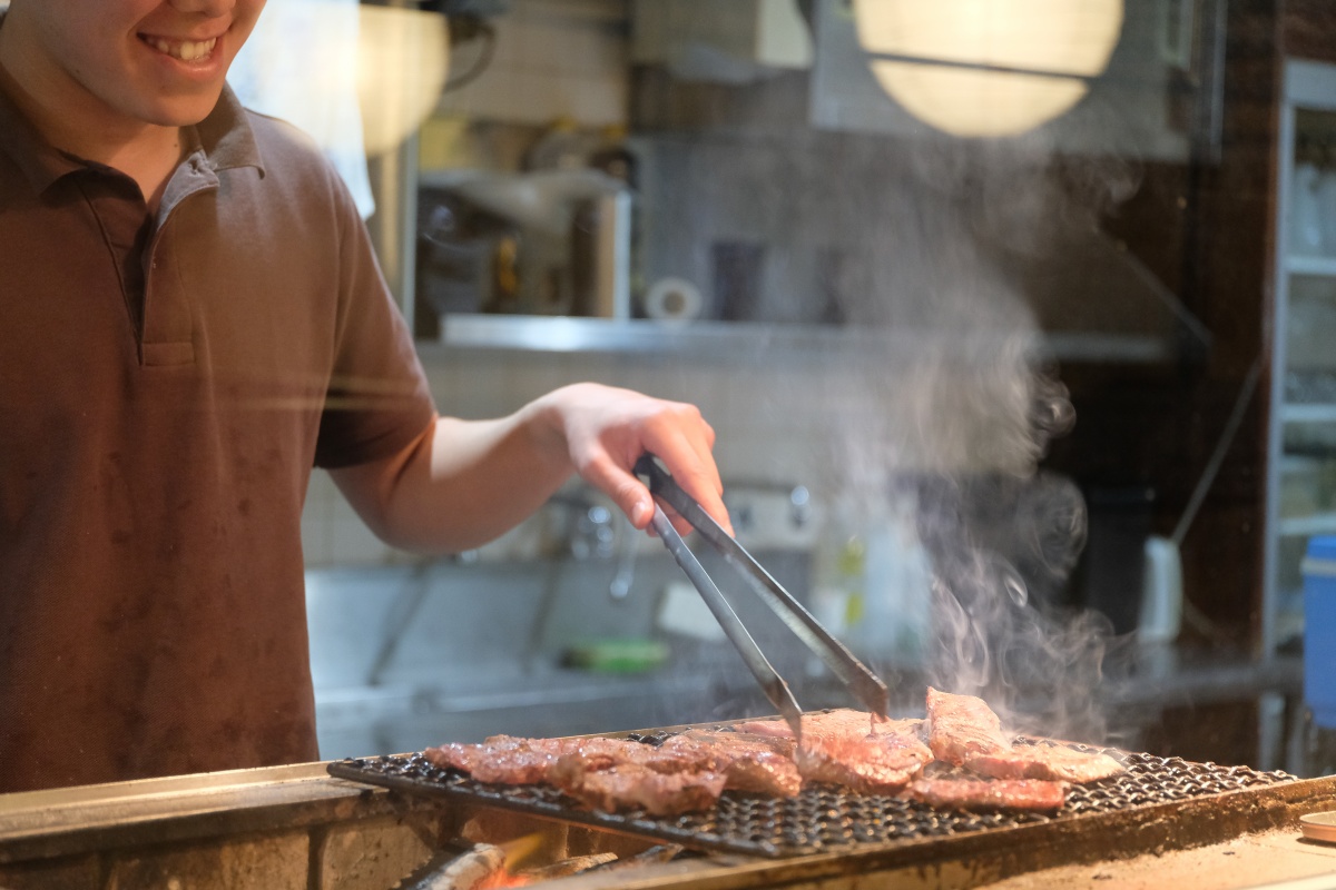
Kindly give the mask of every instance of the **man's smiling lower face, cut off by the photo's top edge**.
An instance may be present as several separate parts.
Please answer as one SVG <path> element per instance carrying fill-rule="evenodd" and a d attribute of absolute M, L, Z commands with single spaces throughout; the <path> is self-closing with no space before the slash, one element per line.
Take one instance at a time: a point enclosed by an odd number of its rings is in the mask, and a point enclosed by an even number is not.
<path fill-rule="evenodd" d="M 13 0 L 7 71 L 90 125 L 199 123 L 265 0 Z"/>

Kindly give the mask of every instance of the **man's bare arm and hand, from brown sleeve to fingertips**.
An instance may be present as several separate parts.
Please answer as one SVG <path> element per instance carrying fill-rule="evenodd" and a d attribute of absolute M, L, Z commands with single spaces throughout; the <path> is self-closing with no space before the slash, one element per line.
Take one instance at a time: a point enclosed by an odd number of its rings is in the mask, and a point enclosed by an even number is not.
<path fill-rule="evenodd" d="M 437 418 L 399 454 L 331 475 L 387 543 L 449 552 L 514 527 L 572 472 L 607 492 L 636 528 L 644 528 L 653 502 L 631 470 L 645 451 L 659 455 L 728 528 L 713 443 L 713 430 L 693 406 L 580 383 L 496 420 Z M 680 518 L 673 522 L 687 531 Z"/>

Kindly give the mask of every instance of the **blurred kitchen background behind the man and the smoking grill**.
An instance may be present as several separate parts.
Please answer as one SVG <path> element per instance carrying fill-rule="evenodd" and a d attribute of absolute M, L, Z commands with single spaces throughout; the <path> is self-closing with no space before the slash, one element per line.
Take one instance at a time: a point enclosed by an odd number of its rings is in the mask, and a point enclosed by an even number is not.
<path fill-rule="evenodd" d="M 231 80 L 343 171 L 442 412 L 697 404 L 739 539 L 900 713 L 1327 767 L 1331 4 L 270 0 Z M 322 757 L 772 710 L 578 483 L 425 559 L 318 472 L 303 543 Z"/>

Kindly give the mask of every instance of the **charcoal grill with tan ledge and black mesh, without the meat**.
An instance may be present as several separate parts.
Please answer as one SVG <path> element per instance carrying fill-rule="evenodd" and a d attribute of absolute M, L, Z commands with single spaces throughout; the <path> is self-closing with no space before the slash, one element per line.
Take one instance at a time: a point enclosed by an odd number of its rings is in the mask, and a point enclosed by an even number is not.
<path fill-rule="evenodd" d="M 1240 875 L 1260 885 L 1336 871 L 1336 850 L 1305 843 L 1299 829 L 1301 815 L 1336 810 L 1336 778 L 1118 757 L 1124 778 L 1078 790 L 1049 817 L 934 813 L 831 789 L 791 803 L 728 794 L 719 810 L 680 819 L 609 817 L 552 791 L 415 775 L 413 755 L 57 789 L 8 795 L 0 807 L 0 886 L 158 887 L 175 878 L 232 887 L 219 875 L 244 866 L 265 875 L 266 890 L 333 890 L 354 878 L 391 887 L 462 837 L 542 837 L 557 858 L 629 858 L 656 837 L 695 847 L 671 862 L 562 878 L 569 890 L 927 890 L 1079 865 L 1108 886 L 1150 867 L 1164 878 L 1157 886 L 1237 887 Z M 1216 871 L 1200 871 L 1198 851 Z"/>

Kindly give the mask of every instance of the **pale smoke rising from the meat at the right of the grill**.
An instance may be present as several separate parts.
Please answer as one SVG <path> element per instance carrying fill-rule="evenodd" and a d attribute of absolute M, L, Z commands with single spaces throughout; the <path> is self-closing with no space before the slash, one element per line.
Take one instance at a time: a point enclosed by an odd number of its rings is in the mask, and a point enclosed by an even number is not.
<path fill-rule="evenodd" d="M 1104 615 L 1069 602 L 1086 507 L 1073 480 L 1042 468 L 1074 411 L 1026 295 L 995 258 L 1045 256 L 1097 231 L 1138 173 L 1049 148 L 915 147 L 911 205 L 860 204 L 879 220 L 863 246 L 878 259 L 844 312 L 916 334 L 891 370 L 858 375 L 879 410 L 836 436 L 831 482 L 855 514 L 912 504 L 931 564 L 918 595 L 933 686 L 983 697 L 1018 731 L 1098 742 L 1110 733 L 1097 689 L 1121 640 Z M 878 239 L 891 247 L 876 251 Z"/>

